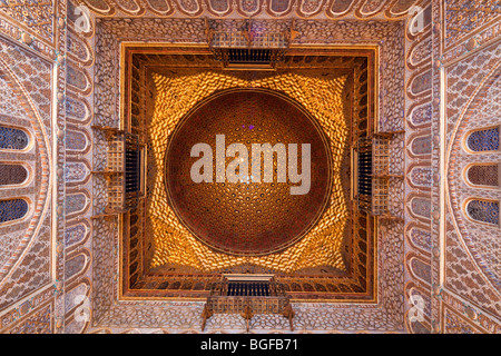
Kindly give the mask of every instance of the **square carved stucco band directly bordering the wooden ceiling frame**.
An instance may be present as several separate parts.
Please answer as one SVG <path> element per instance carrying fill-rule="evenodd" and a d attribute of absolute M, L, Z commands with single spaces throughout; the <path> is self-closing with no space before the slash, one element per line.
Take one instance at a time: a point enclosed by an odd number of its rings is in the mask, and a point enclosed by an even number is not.
<path fill-rule="evenodd" d="M 96 86 L 95 91 L 99 93 L 99 101 L 96 101 L 96 120 L 99 125 L 118 126 L 117 121 L 117 92 L 118 73 L 109 71 L 107 68 L 115 68 L 114 60 L 118 58 L 119 42 L 125 40 L 149 40 L 149 41 L 178 41 L 178 38 L 186 38 L 185 33 L 193 31 L 196 38 L 203 40 L 204 21 L 189 21 L 191 27 L 181 26 L 186 20 L 165 20 L 161 23 L 151 19 L 100 19 L 97 21 L 97 60 L 96 70 L 102 72 L 104 78 Z M 274 26 L 273 22 L 262 22 L 263 26 Z M 184 32 L 173 32 L 173 27 L 185 29 Z M 143 29 L 140 32 L 137 29 Z M 147 29 L 147 30 L 145 30 Z M 403 68 L 399 65 L 397 58 L 403 56 L 404 28 L 402 23 L 353 23 L 346 22 L 342 26 L 328 22 L 306 22 L 298 21 L 296 29 L 302 33 L 298 41 L 314 43 L 343 43 L 351 41 L 357 43 L 377 43 L 385 39 L 382 46 L 381 56 L 389 66 L 384 70 L 387 83 L 383 87 L 387 89 L 385 105 L 382 107 L 384 117 L 389 120 L 386 126 L 402 125 L 402 91 L 393 90 L 401 88 L 404 81 Z M 358 33 L 356 32 L 358 31 Z M 188 32 L 189 33 L 189 32 Z M 335 36 L 328 40 L 325 33 Z M 360 39 L 362 33 L 362 39 Z M 358 36 L 357 36 L 358 34 Z M 396 75 L 395 70 L 397 69 Z M 390 73 L 392 73 L 390 76 Z M 390 120 L 391 119 L 391 120 Z M 392 129 L 389 127 L 389 129 Z M 401 157 L 401 156 L 397 156 Z M 402 169 L 403 160 L 400 161 Z M 95 186 L 95 196 L 102 185 Z M 402 199 L 402 198 L 400 198 Z M 102 208 L 104 201 L 95 200 L 97 209 Z M 116 224 L 108 224 L 100 220 L 95 225 L 96 235 L 94 238 L 95 251 L 99 255 L 99 264 L 95 264 L 92 298 L 94 327 L 90 332 L 106 328 L 110 332 L 124 332 L 124 325 L 134 326 L 136 329 L 161 328 L 170 333 L 197 332 L 200 326 L 200 313 L 203 303 L 195 301 L 134 301 L 117 300 L 117 276 L 118 260 L 114 246 L 117 244 Z M 400 228 L 401 229 L 401 228 Z M 399 226 L 386 226 L 382 235 L 386 237 L 383 246 L 385 264 L 381 264 L 384 270 L 385 280 L 380 285 L 380 303 L 369 306 L 352 307 L 347 304 L 334 306 L 333 304 L 296 304 L 295 328 L 297 330 L 328 332 L 328 330 L 403 330 L 403 266 L 402 266 L 402 233 Z M 99 236 L 99 238 L 97 238 Z M 287 332 L 287 325 L 282 317 L 256 316 L 253 318 L 253 330 L 255 332 Z M 245 324 L 239 316 L 214 316 L 207 324 L 207 330 L 244 332 Z"/>

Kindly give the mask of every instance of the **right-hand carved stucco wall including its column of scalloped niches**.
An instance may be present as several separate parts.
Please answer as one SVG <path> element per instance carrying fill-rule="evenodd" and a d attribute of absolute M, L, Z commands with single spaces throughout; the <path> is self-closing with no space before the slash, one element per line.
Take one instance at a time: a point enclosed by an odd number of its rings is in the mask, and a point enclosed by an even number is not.
<path fill-rule="evenodd" d="M 425 305 L 424 320 L 409 328 L 499 333 L 500 227 L 472 221 L 464 210 L 468 198 L 499 200 L 499 189 L 472 188 L 464 168 L 500 156 L 472 156 L 463 142 L 469 129 L 500 123 L 500 8 L 433 1 L 431 17 L 431 32 L 418 44 L 431 56 L 422 71 L 429 79 L 407 111 L 405 289 Z"/>

